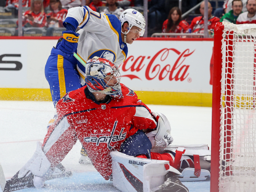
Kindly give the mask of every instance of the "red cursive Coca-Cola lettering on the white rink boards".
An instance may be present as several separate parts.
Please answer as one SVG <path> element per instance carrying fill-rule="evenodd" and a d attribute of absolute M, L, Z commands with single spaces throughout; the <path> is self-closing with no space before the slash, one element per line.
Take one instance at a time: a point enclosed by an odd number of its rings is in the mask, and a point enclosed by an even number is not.
<path fill-rule="evenodd" d="M 190 68 L 190 65 L 185 64 L 185 60 L 193 52 L 194 50 L 190 52 L 190 49 L 180 52 L 174 48 L 165 48 L 159 50 L 153 57 L 139 56 L 135 58 L 131 55 L 120 66 L 122 71 L 130 71 L 131 74 L 125 74 L 122 77 L 142 80 L 136 73 L 145 70 L 145 78 L 147 80 L 159 79 L 159 81 L 162 81 L 168 77 L 169 81 L 184 81 L 188 78 L 188 69 Z M 171 57 L 171 55 L 175 55 L 175 57 Z M 148 64 L 145 64 L 148 60 Z M 187 80 L 191 82 L 191 78 Z"/>

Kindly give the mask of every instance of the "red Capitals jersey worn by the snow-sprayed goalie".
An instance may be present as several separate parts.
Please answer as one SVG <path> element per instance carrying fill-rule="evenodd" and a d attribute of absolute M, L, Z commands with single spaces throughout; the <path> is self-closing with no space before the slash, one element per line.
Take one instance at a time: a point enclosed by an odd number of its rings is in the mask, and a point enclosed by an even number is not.
<path fill-rule="evenodd" d="M 43 151 L 56 166 L 79 140 L 95 169 L 108 180 L 112 150 L 138 129 L 154 129 L 156 121 L 150 109 L 138 100 L 135 92 L 121 84 L 124 98 L 106 97 L 98 103 L 87 87 L 68 92 L 57 103 L 58 118 L 49 127 Z"/>

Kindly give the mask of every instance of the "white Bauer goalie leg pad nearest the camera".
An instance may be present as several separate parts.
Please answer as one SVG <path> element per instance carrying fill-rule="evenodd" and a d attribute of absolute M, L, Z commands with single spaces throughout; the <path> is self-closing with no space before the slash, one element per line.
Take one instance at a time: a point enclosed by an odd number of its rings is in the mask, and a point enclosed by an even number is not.
<path fill-rule="evenodd" d="M 135 158 L 118 151 L 111 152 L 113 185 L 124 192 L 150 191 L 165 182 L 169 172 L 180 175 L 169 161 Z"/>

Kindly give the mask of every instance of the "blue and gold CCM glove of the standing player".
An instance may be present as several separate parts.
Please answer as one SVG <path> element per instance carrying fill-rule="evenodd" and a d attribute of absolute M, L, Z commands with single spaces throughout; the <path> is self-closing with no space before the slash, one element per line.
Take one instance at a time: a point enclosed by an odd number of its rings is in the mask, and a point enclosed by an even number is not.
<path fill-rule="evenodd" d="M 62 31 L 63 40 L 60 42 L 59 49 L 66 54 L 73 54 L 78 48 L 79 34 L 73 31 Z"/>

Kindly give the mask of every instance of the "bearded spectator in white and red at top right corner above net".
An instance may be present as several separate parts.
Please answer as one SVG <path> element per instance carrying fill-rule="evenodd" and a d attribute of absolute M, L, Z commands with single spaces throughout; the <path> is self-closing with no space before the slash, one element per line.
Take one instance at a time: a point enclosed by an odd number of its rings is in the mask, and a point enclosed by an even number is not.
<path fill-rule="evenodd" d="M 256 23 L 256 1 L 248 0 L 246 2 L 246 8 L 247 12 L 244 12 L 238 16 L 236 24 Z"/>

